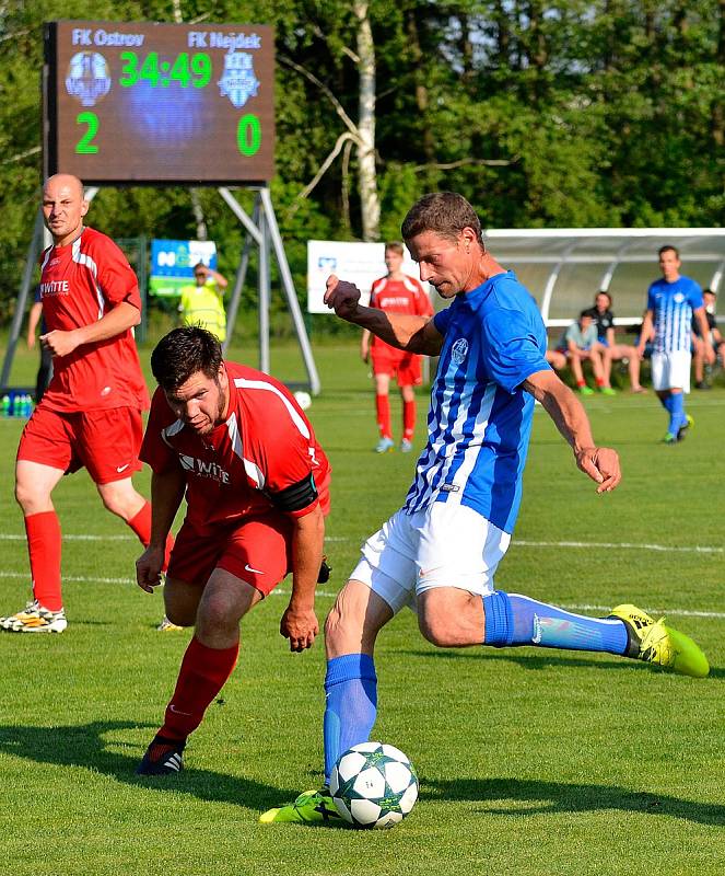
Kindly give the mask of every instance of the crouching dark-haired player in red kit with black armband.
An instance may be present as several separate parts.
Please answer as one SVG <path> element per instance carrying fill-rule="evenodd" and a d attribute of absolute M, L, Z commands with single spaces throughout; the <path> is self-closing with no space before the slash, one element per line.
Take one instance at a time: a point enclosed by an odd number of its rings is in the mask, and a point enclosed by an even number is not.
<path fill-rule="evenodd" d="M 290 572 L 280 633 L 293 652 L 312 647 L 315 587 L 327 572 L 330 468 L 287 388 L 224 361 L 204 328 L 163 337 L 151 369 L 159 389 L 141 459 L 153 470 L 153 519 L 137 579 L 148 592 L 160 583 L 166 535 L 186 496 L 164 603 L 172 623 L 195 626 L 164 724 L 137 770 L 163 775 L 182 769 L 187 737 L 236 665 L 239 621 Z"/>

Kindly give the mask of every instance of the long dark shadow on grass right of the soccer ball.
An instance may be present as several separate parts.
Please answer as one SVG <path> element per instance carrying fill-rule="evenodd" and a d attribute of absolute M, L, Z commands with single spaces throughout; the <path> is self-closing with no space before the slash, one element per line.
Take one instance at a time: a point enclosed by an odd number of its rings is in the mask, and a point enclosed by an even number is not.
<path fill-rule="evenodd" d="M 421 789 L 425 800 L 487 802 L 486 812 L 522 816 L 538 812 L 593 812 L 618 809 L 623 812 L 664 815 L 700 825 L 725 825 L 725 806 L 695 803 L 611 785 L 580 785 L 519 779 L 456 779 L 425 781 Z M 515 800 L 513 805 L 506 802 Z M 500 802 L 492 806 L 491 803 Z M 522 806 L 521 804 L 525 804 Z"/>

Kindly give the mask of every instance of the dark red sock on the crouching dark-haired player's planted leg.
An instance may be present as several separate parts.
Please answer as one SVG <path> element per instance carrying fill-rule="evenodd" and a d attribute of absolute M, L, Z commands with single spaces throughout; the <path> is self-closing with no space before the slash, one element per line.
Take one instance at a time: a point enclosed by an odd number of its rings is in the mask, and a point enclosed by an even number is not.
<path fill-rule="evenodd" d="M 166 706 L 164 726 L 167 739 L 186 739 L 201 724 L 207 706 L 232 675 L 239 644 L 231 648 L 209 648 L 194 636 L 182 660 L 176 690 Z"/>

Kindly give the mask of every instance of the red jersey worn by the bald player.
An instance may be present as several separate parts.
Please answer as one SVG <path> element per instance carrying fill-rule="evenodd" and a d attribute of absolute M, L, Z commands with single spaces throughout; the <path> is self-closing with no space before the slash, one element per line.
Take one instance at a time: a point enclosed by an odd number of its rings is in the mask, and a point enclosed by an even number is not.
<path fill-rule="evenodd" d="M 67 246 L 48 247 L 40 272 L 48 332 L 91 325 L 121 301 L 141 310 L 139 284 L 126 256 L 110 238 L 92 228 L 84 228 Z M 107 341 L 82 344 L 68 356 L 55 356 L 52 369 L 43 404 L 54 411 L 149 406 L 130 328 Z"/>

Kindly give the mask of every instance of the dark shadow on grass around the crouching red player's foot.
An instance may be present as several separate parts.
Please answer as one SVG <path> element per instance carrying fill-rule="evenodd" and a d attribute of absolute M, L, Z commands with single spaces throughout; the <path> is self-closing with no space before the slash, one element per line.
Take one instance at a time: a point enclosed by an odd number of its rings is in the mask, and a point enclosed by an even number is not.
<path fill-rule="evenodd" d="M 109 751 L 108 746 L 116 744 L 109 744 L 104 735 L 138 728 L 138 724 L 124 721 L 61 727 L 0 726 L 0 751 L 36 763 L 84 766 L 125 784 L 189 794 L 214 803 L 244 805 L 260 811 L 292 800 L 300 793 L 299 788 L 280 788 L 250 779 L 195 770 L 194 766 L 178 775 L 136 775 L 142 752 L 129 757 Z"/>

